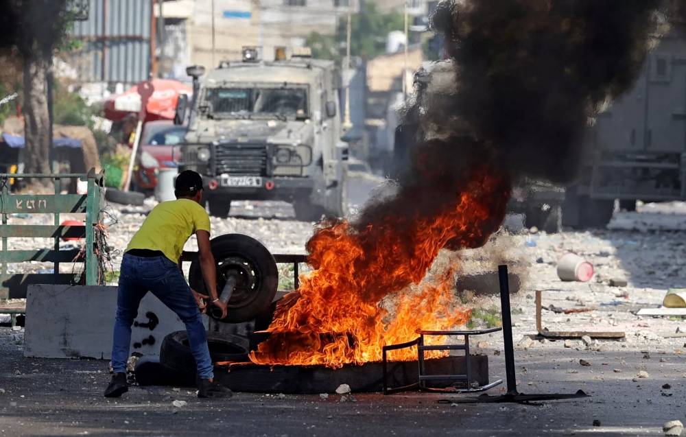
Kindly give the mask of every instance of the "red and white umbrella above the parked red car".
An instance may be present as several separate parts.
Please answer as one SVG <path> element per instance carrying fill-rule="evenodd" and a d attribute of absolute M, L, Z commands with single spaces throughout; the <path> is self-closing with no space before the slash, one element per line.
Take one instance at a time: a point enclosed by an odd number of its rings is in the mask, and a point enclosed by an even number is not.
<path fill-rule="evenodd" d="M 178 80 L 153 79 L 140 82 L 105 101 L 105 117 L 119 121 L 131 113 L 140 113 L 143 122 L 174 119 L 179 94 L 191 95 L 190 86 Z M 140 117 L 140 116 L 139 116 Z"/>

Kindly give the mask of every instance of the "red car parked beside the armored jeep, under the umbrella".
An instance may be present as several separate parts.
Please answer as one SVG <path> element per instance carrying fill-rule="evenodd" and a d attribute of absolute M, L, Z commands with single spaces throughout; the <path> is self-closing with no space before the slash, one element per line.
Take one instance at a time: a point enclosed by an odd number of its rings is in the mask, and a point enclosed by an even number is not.
<path fill-rule="evenodd" d="M 148 121 L 143 125 L 139 167 L 134 173 L 134 181 L 140 189 L 154 189 L 158 170 L 176 167 L 172 148 L 183 142 L 186 130 L 187 126 L 175 125 L 171 120 Z"/>

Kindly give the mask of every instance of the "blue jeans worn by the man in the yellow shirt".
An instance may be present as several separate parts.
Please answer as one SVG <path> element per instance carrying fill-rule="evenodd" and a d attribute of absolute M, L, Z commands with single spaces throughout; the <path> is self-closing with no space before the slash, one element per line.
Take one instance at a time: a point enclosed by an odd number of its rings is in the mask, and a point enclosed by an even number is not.
<path fill-rule="evenodd" d="M 141 299 L 148 291 L 174 311 L 186 325 L 198 376 L 202 379 L 213 378 L 212 359 L 200 309 L 178 265 L 167 257 L 144 258 L 129 254 L 124 254 L 119 274 L 117 319 L 112 345 L 112 366 L 115 373 L 126 373 L 131 325 L 138 315 Z"/>

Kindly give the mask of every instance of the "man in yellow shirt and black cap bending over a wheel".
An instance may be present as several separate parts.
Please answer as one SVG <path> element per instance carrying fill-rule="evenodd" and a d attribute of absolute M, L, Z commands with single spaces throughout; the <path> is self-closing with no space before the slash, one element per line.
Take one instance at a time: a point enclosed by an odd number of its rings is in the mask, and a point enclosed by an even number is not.
<path fill-rule="evenodd" d="M 196 172 L 181 172 L 174 185 L 176 200 L 162 202 L 150 211 L 124 252 L 119 274 L 117 318 L 112 346 L 114 375 L 105 397 L 120 397 L 128 391 L 126 362 L 131 343 L 131 325 L 141 299 L 152 292 L 186 325 L 188 340 L 198 368 L 198 397 L 229 397 L 228 388 L 214 381 L 212 359 L 200 318 L 199 295 L 181 272 L 178 261 L 186 241 L 198 239 L 200 267 L 212 305 L 226 317 L 226 303 L 217 297 L 214 257 L 210 247 L 210 219 L 200 205 L 202 178 Z"/>

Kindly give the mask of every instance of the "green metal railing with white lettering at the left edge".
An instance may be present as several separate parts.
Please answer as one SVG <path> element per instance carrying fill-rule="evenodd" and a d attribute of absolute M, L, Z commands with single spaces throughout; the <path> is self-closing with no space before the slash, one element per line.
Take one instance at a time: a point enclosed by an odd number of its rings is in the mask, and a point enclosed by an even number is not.
<path fill-rule="evenodd" d="M 10 178 L 52 179 L 54 194 L 11 194 Z M 64 178 L 81 178 L 88 181 L 88 191 L 80 194 L 60 194 L 60 182 Z M 97 285 L 97 254 L 94 250 L 94 226 L 99 222 L 102 209 L 100 187 L 103 174 L 92 169 L 88 174 L 0 174 L 0 299 L 25 298 L 31 284 Z M 8 224 L 10 214 L 54 214 L 53 225 Z M 85 226 L 62 226 L 60 213 L 85 213 Z M 11 250 L 8 241 L 12 238 L 54 238 L 52 249 Z M 60 239 L 64 237 L 85 237 L 85 250 L 60 250 Z M 54 263 L 52 273 L 9 274 L 8 263 L 43 261 Z M 60 273 L 60 263 L 85 262 L 85 281 L 80 274 Z"/>

